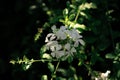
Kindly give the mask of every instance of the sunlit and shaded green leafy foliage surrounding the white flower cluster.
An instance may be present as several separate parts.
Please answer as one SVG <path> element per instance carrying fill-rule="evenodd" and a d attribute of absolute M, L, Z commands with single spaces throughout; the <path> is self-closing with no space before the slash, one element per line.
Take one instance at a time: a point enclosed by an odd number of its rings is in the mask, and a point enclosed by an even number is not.
<path fill-rule="evenodd" d="M 111 71 L 110 76 L 108 76 L 109 79 L 119 80 L 120 43 L 117 39 L 119 39 L 120 33 L 113 26 L 117 18 L 112 15 L 115 7 L 109 4 L 111 0 L 102 2 L 97 0 L 69 0 L 65 1 L 66 6 L 62 9 L 55 8 L 55 2 L 52 0 L 48 0 L 50 5 L 47 5 L 43 0 L 41 1 L 42 10 L 45 11 L 48 19 L 42 28 L 38 28 L 38 32 L 34 36 L 34 42 L 40 48 L 39 56 L 37 59 L 28 59 L 27 56 L 24 56 L 23 59 L 11 60 L 10 63 L 21 64 L 25 71 L 29 70 L 35 62 L 47 64 L 50 75 L 47 73 L 40 74 L 41 80 L 49 80 L 49 78 L 51 80 L 88 80 L 94 71 L 105 72 L 108 69 Z M 116 3 L 114 4 L 118 7 Z M 110 6 L 114 8 L 109 9 Z M 52 33 L 52 25 L 58 25 L 57 29 L 60 26 L 66 26 L 70 30 L 75 28 L 83 36 L 81 40 L 85 43 L 81 41 L 81 44 L 76 48 L 76 53 L 72 56 L 53 57 L 52 51 L 45 46 L 45 37 Z M 51 36 L 54 37 L 54 35 Z M 70 36 L 67 35 L 67 37 Z M 48 39 L 58 40 L 56 37 L 53 39 L 49 37 Z M 69 41 L 68 39 L 60 42 L 62 44 L 60 49 L 65 51 L 64 44 Z M 73 44 L 71 40 L 69 42 Z M 63 62 L 64 64 L 62 64 Z M 99 63 L 102 65 L 99 66 Z M 80 72 L 81 70 L 83 72 Z"/>

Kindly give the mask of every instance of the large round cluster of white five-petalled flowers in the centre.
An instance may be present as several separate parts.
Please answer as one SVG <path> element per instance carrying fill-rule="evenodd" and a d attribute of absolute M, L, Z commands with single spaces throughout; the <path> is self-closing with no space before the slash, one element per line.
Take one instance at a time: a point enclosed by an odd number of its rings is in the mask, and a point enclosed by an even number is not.
<path fill-rule="evenodd" d="M 82 36 L 76 29 L 68 29 L 65 26 L 61 26 L 57 29 L 56 26 L 52 26 L 53 33 L 49 33 L 46 36 L 46 48 L 51 50 L 52 57 L 61 58 L 66 55 L 73 55 L 76 53 L 76 47 L 79 44 L 84 45 Z"/>

